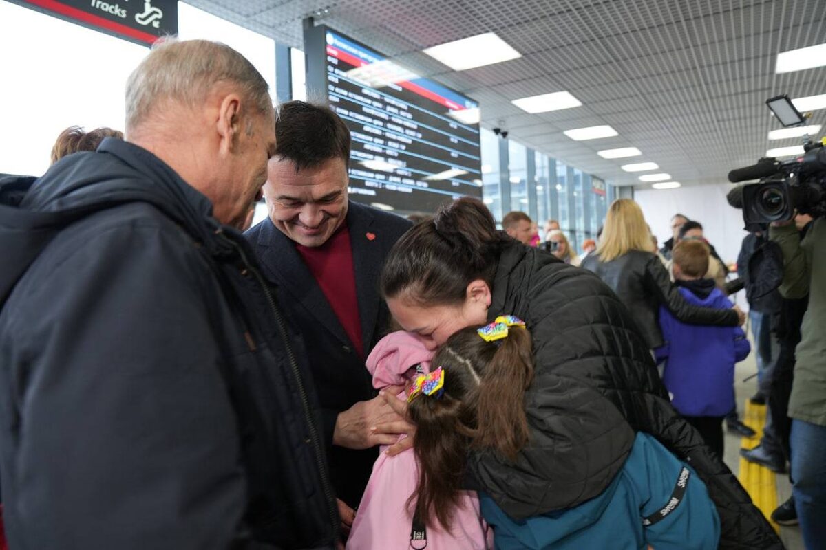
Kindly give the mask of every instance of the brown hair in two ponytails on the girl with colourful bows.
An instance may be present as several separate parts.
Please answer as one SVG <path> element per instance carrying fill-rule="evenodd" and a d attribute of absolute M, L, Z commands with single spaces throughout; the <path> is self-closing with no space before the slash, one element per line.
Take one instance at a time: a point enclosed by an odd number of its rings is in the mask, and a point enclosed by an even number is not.
<path fill-rule="evenodd" d="M 530 333 L 510 327 L 487 342 L 476 327 L 450 336 L 434 355 L 444 369 L 441 397 L 421 396 L 408 408 L 416 425 L 419 485 L 411 496 L 416 517 L 450 528 L 468 449 L 493 449 L 511 462 L 528 443 L 525 389 L 534 376 Z"/>

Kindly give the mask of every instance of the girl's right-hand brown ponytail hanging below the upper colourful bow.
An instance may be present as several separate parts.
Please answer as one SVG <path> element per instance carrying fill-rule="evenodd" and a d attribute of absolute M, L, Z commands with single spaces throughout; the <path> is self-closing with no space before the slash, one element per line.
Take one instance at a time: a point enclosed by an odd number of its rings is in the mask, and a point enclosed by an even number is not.
<path fill-rule="evenodd" d="M 528 443 L 525 390 L 534 378 L 530 333 L 511 327 L 485 368 L 477 404 L 477 435 L 474 445 L 498 450 L 509 460 Z"/>

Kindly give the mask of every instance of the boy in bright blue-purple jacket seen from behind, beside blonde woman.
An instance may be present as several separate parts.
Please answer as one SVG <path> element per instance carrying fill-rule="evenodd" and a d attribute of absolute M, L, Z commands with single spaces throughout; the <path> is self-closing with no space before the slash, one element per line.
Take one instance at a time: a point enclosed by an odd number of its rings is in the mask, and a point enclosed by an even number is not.
<path fill-rule="evenodd" d="M 714 280 L 702 278 L 709 269 L 709 255 L 704 242 L 678 244 L 672 251 L 674 279 L 689 303 L 729 309 L 729 299 Z M 665 344 L 655 353 L 657 363 L 665 361 L 662 382 L 672 405 L 722 457 L 723 421 L 734 408 L 734 364 L 751 350 L 746 335 L 740 327 L 686 325 L 662 307 L 660 327 Z"/>

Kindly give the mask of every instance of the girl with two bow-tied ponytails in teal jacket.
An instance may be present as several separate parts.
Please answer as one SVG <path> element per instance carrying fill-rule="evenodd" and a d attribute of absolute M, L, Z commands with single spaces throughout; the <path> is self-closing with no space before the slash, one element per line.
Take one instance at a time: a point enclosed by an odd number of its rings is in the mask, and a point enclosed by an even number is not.
<path fill-rule="evenodd" d="M 495 449 L 516 471 L 535 464 L 519 458 L 533 430 L 558 422 L 528 419 L 525 389 L 534 374 L 532 343 L 525 323 L 496 317 L 485 327 L 450 336 L 434 355 L 430 388 L 412 388 L 408 408 L 416 425 L 415 455 L 421 477 L 415 515 L 431 526 L 457 524 L 468 451 Z M 545 378 L 544 378 L 545 379 Z M 564 392 L 554 382 L 547 392 Z M 588 413 L 580 418 L 587 421 Z M 533 432 L 535 433 L 535 432 Z M 553 468 L 553 452 L 546 458 Z M 705 484 L 650 435 L 638 433 L 624 466 L 600 495 L 581 505 L 527 519 L 506 515 L 480 492 L 482 515 L 494 528 L 497 550 L 510 548 L 646 548 L 712 550 L 719 517 Z M 457 547 L 461 548 L 461 547 Z"/>

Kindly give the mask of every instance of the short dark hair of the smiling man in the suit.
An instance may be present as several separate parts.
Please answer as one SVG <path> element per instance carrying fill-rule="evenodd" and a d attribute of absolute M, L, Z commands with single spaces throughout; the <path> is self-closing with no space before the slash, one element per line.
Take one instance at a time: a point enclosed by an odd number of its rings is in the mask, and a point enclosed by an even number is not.
<path fill-rule="evenodd" d="M 328 106 L 290 101 L 278 109 L 275 154 L 296 163 L 296 171 L 314 168 L 331 158 L 346 163 L 350 131 Z"/>

